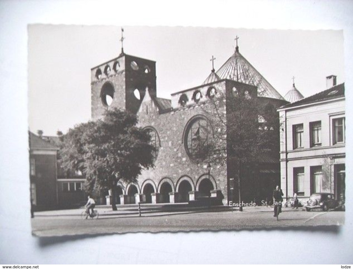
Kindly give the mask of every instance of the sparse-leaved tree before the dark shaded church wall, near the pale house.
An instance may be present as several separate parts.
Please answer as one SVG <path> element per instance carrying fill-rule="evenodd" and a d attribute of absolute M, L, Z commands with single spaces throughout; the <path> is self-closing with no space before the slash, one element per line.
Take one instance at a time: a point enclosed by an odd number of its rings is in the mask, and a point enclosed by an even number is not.
<path fill-rule="evenodd" d="M 213 127 L 213 140 L 203 161 L 216 165 L 228 162 L 228 175 L 245 184 L 250 167 L 261 162 L 264 155 L 279 155 L 279 118 L 270 103 L 262 103 L 252 88 L 218 93 L 204 106 L 204 114 Z"/>

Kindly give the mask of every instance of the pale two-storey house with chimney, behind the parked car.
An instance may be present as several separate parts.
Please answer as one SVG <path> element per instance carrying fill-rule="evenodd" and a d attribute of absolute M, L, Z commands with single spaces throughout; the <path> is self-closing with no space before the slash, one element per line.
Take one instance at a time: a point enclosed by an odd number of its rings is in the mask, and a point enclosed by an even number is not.
<path fill-rule="evenodd" d="M 306 201 L 316 192 L 345 194 L 345 84 L 327 77 L 328 89 L 281 106 L 281 187 Z"/>

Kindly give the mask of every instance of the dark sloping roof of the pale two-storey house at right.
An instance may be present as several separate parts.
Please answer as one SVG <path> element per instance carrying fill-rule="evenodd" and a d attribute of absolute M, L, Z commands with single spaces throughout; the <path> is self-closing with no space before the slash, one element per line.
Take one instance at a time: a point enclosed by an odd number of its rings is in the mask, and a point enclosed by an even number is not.
<path fill-rule="evenodd" d="M 345 84 L 344 83 L 333 86 L 327 90 L 316 93 L 312 96 L 300 99 L 297 102 L 281 106 L 280 109 L 292 108 L 292 107 L 298 106 L 298 105 L 317 103 L 317 102 L 336 99 L 336 98 L 340 98 L 340 97 L 345 97 Z"/>

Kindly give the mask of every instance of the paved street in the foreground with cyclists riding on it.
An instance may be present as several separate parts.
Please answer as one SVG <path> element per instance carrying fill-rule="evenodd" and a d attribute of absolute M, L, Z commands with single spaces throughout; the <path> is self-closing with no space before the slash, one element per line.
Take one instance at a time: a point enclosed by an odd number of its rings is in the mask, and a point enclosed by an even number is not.
<path fill-rule="evenodd" d="M 303 209 L 283 208 L 279 220 L 270 207 L 249 207 L 222 212 L 143 212 L 136 208 L 98 208 L 97 220 L 82 220 L 83 209 L 36 212 L 32 230 L 36 236 L 62 236 L 74 234 L 103 234 L 126 232 L 175 232 L 206 230 L 239 230 L 275 227 L 342 225 L 344 212 L 306 212 Z"/>

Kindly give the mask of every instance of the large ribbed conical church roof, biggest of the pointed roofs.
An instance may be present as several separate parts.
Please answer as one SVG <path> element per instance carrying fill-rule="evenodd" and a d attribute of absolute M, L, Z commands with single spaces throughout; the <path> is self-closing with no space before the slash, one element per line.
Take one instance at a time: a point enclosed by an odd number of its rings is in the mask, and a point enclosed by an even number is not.
<path fill-rule="evenodd" d="M 238 46 L 216 74 L 220 79 L 231 79 L 257 86 L 259 96 L 284 100 L 281 94 L 239 53 Z"/>

